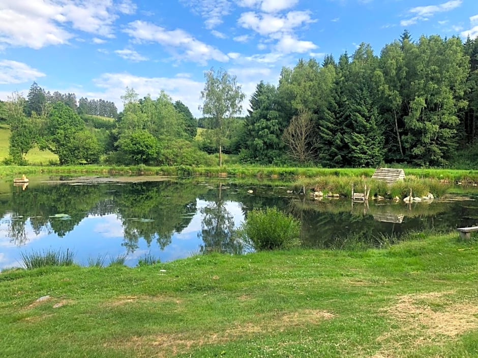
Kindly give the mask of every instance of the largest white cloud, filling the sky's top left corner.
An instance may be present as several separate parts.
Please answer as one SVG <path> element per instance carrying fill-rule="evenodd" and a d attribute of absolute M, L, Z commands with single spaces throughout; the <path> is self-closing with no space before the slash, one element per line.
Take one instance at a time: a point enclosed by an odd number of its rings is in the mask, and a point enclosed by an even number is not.
<path fill-rule="evenodd" d="M 130 0 L 0 0 L 0 44 L 40 49 L 67 44 L 80 30 L 114 37 L 118 12 L 135 10 Z"/>

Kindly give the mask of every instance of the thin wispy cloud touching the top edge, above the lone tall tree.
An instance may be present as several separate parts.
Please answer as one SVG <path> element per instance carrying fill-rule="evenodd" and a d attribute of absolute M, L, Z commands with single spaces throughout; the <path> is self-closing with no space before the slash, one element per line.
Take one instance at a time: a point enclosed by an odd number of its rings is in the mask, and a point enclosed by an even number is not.
<path fill-rule="evenodd" d="M 229 15 L 231 3 L 229 0 L 181 0 L 191 11 L 205 19 L 207 29 L 213 29 L 223 23 L 222 18 Z"/>

